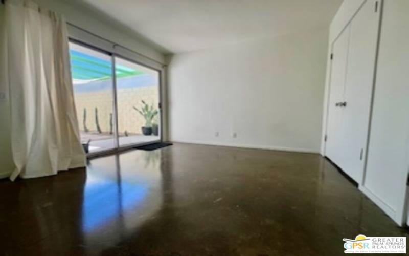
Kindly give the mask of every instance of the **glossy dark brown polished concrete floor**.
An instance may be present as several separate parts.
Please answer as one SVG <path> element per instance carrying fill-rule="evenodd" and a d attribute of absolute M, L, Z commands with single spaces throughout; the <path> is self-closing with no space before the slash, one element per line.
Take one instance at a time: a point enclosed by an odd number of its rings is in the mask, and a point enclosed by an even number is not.
<path fill-rule="evenodd" d="M 406 236 L 315 154 L 174 144 L 0 181 L 1 255 L 343 255 Z"/>

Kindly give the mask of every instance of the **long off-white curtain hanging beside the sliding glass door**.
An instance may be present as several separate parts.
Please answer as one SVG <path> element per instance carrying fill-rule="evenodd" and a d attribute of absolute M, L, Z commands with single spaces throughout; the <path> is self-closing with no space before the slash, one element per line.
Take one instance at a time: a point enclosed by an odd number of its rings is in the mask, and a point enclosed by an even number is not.
<path fill-rule="evenodd" d="M 85 165 L 66 24 L 31 1 L 7 0 L 6 37 L 14 180 Z"/>

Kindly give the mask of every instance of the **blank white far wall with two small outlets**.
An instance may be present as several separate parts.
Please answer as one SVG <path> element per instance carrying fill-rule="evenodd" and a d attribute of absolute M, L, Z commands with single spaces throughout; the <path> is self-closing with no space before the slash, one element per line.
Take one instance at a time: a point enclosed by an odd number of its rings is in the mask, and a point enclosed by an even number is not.
<path fill-rule="evenodd" d="M 321 29 L 172 56 L 170 139 L 319 152 L 327 49 Z"/>

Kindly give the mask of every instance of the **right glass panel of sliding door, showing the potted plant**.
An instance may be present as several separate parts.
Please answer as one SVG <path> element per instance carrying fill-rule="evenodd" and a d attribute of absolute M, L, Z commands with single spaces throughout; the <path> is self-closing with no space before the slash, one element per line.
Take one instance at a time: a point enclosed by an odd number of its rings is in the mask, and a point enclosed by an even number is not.
<path fill-rule="evenodd" d="M 119 146 L 160 140 L 159 72 L 115 57 Z"/>

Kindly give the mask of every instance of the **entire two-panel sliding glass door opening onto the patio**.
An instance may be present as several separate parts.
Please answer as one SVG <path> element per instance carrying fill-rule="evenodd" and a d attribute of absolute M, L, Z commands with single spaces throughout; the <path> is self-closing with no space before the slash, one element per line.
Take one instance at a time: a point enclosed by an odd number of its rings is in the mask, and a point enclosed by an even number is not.
<path fill-rule="evenodd" d="M 159 71 L 75 42 L 70 55 L 87 153 L 161 140 Z"/>

